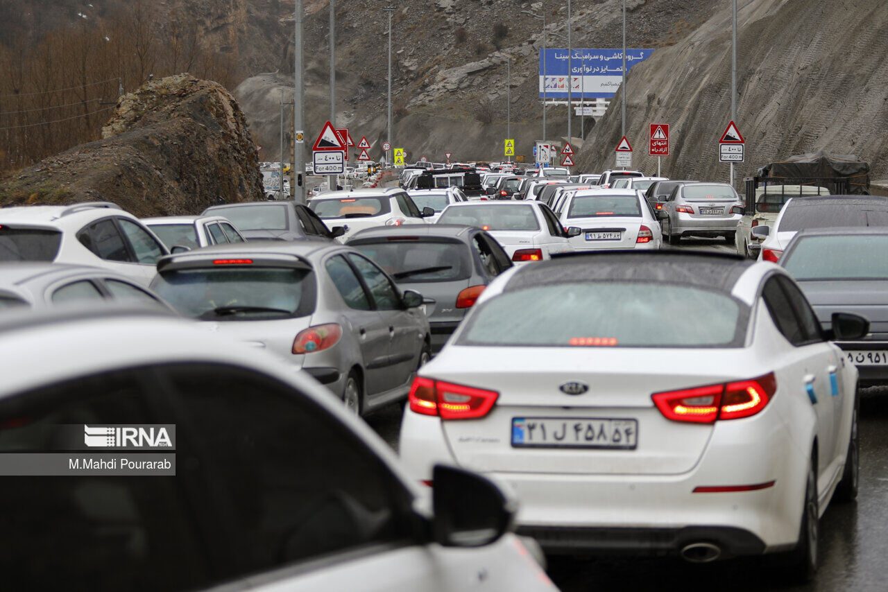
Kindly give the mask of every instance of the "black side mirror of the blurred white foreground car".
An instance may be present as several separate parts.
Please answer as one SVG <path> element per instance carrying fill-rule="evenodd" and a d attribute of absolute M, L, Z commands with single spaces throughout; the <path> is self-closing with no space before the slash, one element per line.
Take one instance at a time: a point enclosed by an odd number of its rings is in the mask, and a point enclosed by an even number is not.
<path fill-rule="evenodd" d="M 516 504 L 488 478 L 435 465 L 432 536 L 444 547 L 483 547 L 511 531 Z"/>

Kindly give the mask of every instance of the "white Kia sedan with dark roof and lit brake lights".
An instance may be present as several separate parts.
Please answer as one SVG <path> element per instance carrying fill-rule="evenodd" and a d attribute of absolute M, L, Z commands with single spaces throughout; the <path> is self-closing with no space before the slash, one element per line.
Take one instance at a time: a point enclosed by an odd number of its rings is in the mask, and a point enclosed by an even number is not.
<path fill-rule="evenodd" d="M 829 340 L 867 331 L 824 331 L 786 272 L 736 256 L 517 267 L 420 369 L 400 454 L 417 480 L 456 462 L 510 484 L 552 553 L 785 553 L 805 580 L 818 518 L 857 490 L 858 375 Z"/>

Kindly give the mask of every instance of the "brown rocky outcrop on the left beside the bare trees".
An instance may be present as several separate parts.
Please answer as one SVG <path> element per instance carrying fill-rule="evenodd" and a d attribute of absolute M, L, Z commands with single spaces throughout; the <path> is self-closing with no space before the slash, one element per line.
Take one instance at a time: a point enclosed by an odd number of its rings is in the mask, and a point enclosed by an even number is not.
<path fill-rule="evenodd" d="M 124 95 L 102 139 L 0 179 L 0 205 L 113 201 L 139 217 L 262 199 L 256 147 L 218 83 L 177 75 Z"/>

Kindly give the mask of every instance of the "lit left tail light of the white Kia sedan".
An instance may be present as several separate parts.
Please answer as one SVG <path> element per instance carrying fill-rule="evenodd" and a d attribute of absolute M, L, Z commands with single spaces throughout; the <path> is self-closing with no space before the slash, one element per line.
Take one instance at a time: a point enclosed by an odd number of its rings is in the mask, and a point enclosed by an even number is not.
<path fill-rule="evenodd" d="M 410 411 L 441 419 L 476 419 L 494 407 L 499 393 L 416 376 L 410 387 Z"/>

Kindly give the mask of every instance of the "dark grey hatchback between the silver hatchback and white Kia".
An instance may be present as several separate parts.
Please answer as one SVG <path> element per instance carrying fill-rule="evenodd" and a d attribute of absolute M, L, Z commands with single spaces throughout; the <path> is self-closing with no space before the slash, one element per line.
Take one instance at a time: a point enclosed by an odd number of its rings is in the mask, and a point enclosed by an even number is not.
<path fill-rule="evenodd" d="M 389 272 L 400 288 L 435 300 L 426 305 L 433 353 L 484 288 L 512 266 L 496 239 L 472 226 L 380 226 L 356 233 L 346 244 Z"/>

